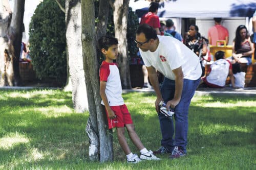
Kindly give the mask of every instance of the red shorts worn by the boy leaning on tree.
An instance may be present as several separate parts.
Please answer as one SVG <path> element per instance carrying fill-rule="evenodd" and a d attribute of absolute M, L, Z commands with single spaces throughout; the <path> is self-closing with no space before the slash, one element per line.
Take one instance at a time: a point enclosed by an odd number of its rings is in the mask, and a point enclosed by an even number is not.
<path fill-rule="evenodd" d="M 133 124 L 133 120 L 131 117 L 131 114 L 129 113 L 126 105 L 121 106 L 110 106 L 110 108 L 114 111 L 116 118 L 110 119 L 108 115 L 108 111 L 106 111 L 106 114 L 108 117 L 109 122 L 109 129 L 115 128 L 115 127 L 124 127 L 126 124 Z"/>

